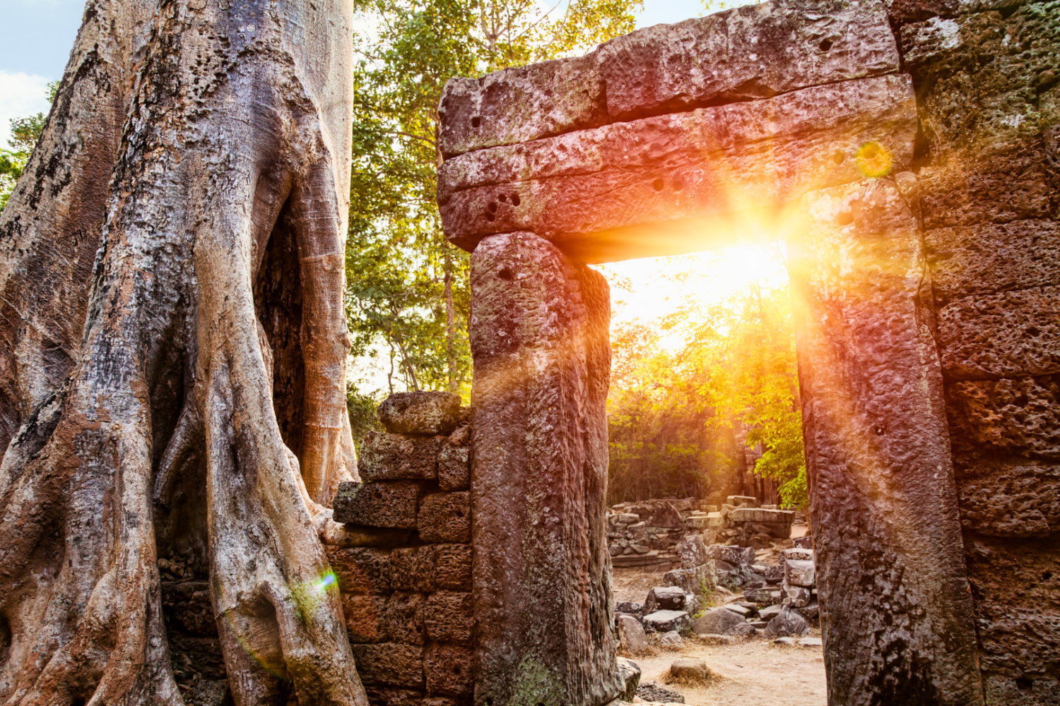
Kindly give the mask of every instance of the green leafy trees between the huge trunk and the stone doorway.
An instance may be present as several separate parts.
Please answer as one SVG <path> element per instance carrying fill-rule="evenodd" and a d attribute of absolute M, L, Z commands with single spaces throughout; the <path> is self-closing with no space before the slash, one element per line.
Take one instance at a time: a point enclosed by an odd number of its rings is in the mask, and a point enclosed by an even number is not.
<path fill-rule="evenodd" d="M 632 30 L 639 5 L 572 0 L 552 18 L 536 0 L 359 3 L 376 31 L 356 38 L 348 312 L 353 354 L 389 357 L 391 392 L 470 394 L 469 260 L 436 201 L 445 82 L 583 50 Z"/>

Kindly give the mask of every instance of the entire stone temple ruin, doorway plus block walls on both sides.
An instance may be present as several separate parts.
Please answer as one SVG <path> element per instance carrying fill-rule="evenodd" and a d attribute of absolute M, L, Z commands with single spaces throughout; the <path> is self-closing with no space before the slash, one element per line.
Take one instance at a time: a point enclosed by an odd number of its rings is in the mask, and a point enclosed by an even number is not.
<path fill-rule="evenodd" d="M 829 704 L 1060 703 L 1058 75 L 1058 2 L 771 0 L 450 80 L 472 406 L 391 398 L 330 538 L 372 703 L 620 695 L 587 265 L 747 213 L 798 215 Z"/>

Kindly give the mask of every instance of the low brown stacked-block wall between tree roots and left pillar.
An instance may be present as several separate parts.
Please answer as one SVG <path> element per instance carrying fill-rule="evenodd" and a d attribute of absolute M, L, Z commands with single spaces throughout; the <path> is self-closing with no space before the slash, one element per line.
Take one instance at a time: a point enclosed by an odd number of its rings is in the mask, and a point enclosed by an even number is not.
<path fill-rule="evenodd" d="M 392 395 L 343 484 L 328 547 L 372 706 L 465 706 L 474 689 L 469 433 L 460 399 Z"/>

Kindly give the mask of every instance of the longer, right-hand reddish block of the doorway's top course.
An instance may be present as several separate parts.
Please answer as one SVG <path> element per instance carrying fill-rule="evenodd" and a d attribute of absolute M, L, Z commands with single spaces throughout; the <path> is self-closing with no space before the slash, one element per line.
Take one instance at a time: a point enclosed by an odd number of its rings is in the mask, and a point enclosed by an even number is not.
<path fill-rule="evenodd" d="M 752 98 L 898 71 L 882 2 L 773 0 L 600 47 L 612 120 Z"/>

